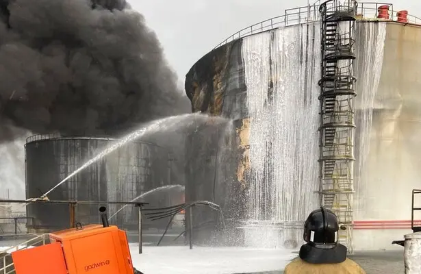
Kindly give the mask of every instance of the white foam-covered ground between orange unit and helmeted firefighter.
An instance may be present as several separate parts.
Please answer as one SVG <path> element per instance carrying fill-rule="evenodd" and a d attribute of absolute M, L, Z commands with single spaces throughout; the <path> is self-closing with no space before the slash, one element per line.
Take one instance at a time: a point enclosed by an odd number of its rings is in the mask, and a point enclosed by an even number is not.
<path fill-rule="evenodd" d="M 144 274 L 233 274 L 283 270 L 297 254 L 282 249 L 238 247 L 143 247 L 131 244 L 131 258 Z"/>

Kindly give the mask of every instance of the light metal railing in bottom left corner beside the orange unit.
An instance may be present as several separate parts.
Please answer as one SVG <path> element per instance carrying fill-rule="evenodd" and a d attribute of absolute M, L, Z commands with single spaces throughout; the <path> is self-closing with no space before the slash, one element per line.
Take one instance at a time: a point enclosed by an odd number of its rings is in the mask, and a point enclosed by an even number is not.
<path fill-rule="evenodd" d="M 9 247 L 0 251 L 0 274 L 12 274 L 16 273 L 14 270 L 14 264 L 12 260 L 12 252 L 28 249 L 30 247 L 38 247 L 40 245 L 45 245 L 49 243 L 49 234 L 42 234 L 27 240 L 26 242 L 21 242 L 14 247 Z"/>

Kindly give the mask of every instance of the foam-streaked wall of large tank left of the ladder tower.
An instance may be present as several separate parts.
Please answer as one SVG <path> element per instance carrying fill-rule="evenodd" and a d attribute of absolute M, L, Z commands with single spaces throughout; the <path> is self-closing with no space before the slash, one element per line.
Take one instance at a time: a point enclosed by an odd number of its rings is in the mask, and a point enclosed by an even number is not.
<path fill-rule="evenodd" d="M 316 191 L 317 158 L 313 159 L 312 156 L 318 151 L 318 116 L 302 115 L 305 112 L 318 110 L 317 96 L 311 97 L 312 94 L 318 92 L 317 82 L 310 84 L 318 80 L 318 73 L 311 73 L 311 70 L 317 69 L 320 63 L 320 60 L 316 60 L 314 56 L 314 52 L 320 51 L 318 48 L 320 44 L 317 43 L 318 36 L 314 34 L 316 29 L 318 29 L 316 24 L 305 28 L 288 27 L 235 40 L 205 55 L 196 62 L 186 77 L 186 91 L 192 99 L 194 110 L 207 110 L 234 121 L 237 135 L 235 159 L 238 162 L 236 168 L 231 169 L 231 174 L 229 174 L 234 179 L 227 182 L 231 184 L 234 192 L 230 195 L 225 192 L 220 197 L 221 200 L 231 200 L 232 197 L 236 197 L 237 201 L 229 204 L 231 208 L 224 208 L 224 214 L 232 216 L 227 221 L 227 226 L 232 228 L 233 233 L 230 234 L 235 235 L 235 237 L 228 236 L 234 240 L 229 243 L 259 247 L 296 247 L 302 239 L 303 225 L 299 221 L 304 221 L 307 214 L 314 209 L 312 205 L 316 201 L 316 195 L 312 195 L 311 199 L 301 200 L 298 198 L 298 192 L 294 192 L 292 187 L 302 184 L 302 189 L 306 188 L 309 192 Z M 298 39 L 301 35 L 316 42 L 309 43 L 308 40 L 301 42 Z M 284 36 L 289 36 L 288 41 Z M 283 68 L 288 65 L 286 62 L 289 58 L 292 60 L 302 58 L 301 62 L 296 62 L 298 66 L 291 65 L 296 73 L 289 71 L 279 71 L 279 73 L 284 73 L 283 75 L 270 73 L 272 71 L 270 63 L 278 62 L 278 58 L 283 56 L 283 53 L 281 50 L 268 51 L 268 49 L 272 47 L 271 41 L 275 41 L 273 46 L 277 49 L 275 43 L 280 42 L 281 39 L 285 40 L 285 49 L 282 50 L 289 50 L 290 56 L 283 58 L 283 61 L 281 60 L 283 63 L 277 65 Z M 287 49 L 286 45 L 290 40 L 294 40 L 294 45 Z M 251 56 L 253 54 L 254 60 Z M 300 68 L 301 64 L 305 64 L 303 58 L 307 58 L 311 64 Z M 212 70 L 214 70 L 213 74 Z M 300 72 L 306 75 L 298 75 Z M 253 77 L 255 79 L 252 79 Z M 307 77 L 308 86 L 298 81 L 300 77 Z M 279 80 L 282 78 L 291 79 L 291 84 L 285 87 L 288 89 L 283 91 L 286 97 L 279 98 L 279 101 L 285 101 L 290 108 L 289 113 L 285 113 L 286 116 L 283 117 L 281 117 L 284 115 L 283 111 L 277 112 L 275 109 L 279 108 L 275 103 L 277 98 L 272 97 L 275 88 L 281 88 L 276 85 L 277 83 L 279 85 Z M 209 82 L 209 79 L 213 81 Z M 292 92 L 293 88 L 300 90 Z M 265 90 L 266 95 L 261 93 L 262 91 L 265 93 Z M 215 99 L 211 97 L 207 101 L 203 100 L 207 97 L 199 95 L 204 91 L 215 95 Z M 288 96 L 290 96 L 290 103 L 286 103 Z M 222 99 L 218 99 L 219 97 Z M 302 101 L 298 103 L 298 100 Z M 294 107 L 300 104 L 303 107 L 294 110 Z M 208 105 L 209 108 L 207 108 Z M 273 105 L 273 114 L 266 113 L 263 105 Z M 215 110 L 218 111 L 215 113 Z M 277 113 L 281 116 L 277 117 Z M 291 123 L 288 123 L 288 119 Z M 256 121 L 261 121 L 261 123 L 257 125 Z M 293 137 L 298 121 L 309 123 L 305 127 L 307 132 Z M 281 128 L 288 130 L 291 134 L 279 136 L 282 133 Z M 275 136 L 284 138 L 285 142 L 277 142 Z M 307 136 L 309 140 L 304 140 L 304 136 Z M 294 151 L 298 145 L 306 147 L 306 154 L 303 157 L 297 156 L 298 150 Z M 251 155 L 253 155 L 253 164 L 250 162 Z M 219 166 L 225 164 L 227 162 L 218 162 Z M 212 166 L 207 166 L 207 169 L 212 169 Z M 210 186 L 217 183 L 218 181 L 216 183 L 207 181 Z M 200 192 L 201 190 L 196 188 L 192 191 Z M 190 192 L 189 180 L 186 183 L 186 192 Z M 290 204 L 284 207 L 282 203 L 288 197 L 292 199 Z M 279 238 L 274 238 L 274 235 L 278 235 Z"/>

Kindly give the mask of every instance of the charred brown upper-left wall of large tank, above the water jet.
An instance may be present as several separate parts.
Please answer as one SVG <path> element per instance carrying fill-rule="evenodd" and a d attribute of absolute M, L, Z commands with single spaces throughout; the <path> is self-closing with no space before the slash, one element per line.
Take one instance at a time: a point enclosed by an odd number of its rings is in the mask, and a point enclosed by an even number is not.
<path fill-rule="evenodd" d="M 247 116 L 242 40 L 235 40 L 203 56 L 186 75 L 192 112 L 222 115 L 232 120 Z"/>

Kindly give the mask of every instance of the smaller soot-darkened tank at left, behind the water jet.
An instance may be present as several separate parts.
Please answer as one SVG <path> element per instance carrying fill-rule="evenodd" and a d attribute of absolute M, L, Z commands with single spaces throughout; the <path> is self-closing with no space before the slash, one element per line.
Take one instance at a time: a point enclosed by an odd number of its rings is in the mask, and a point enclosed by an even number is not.
<path fill-rule="evenodd" d="M 112 138 L 64 137 L 58 134 L 27 138 L 27 198 L 40 197 L 116 141 Z M 164 147 L 149 142 L 129 142 L 68 179 L 49 193 L 48 198 L 59 201 L 131 201 L 145 192 L 170 184 L 171 161 L 172 157 Z M 160 201 L 159 205 L 153 206 L 168 206 L 168 203 L 172 202 Z M 109 216 L 121 207 L 107 205 Z M 69 210 L 69 206 L 63 204 L 30 204 L 27 216 L 34 217 L 36 225 L 29 225 L 29 229 L 51 231 L 68 228 Z M 137 212 L 133 206 L 127 206 L 110 223 L 136 230 Z M 75 221 L 101 223 L 98 205 L 77 205 Z M 163 224 L 155 222 L 150 225 Z"/>

